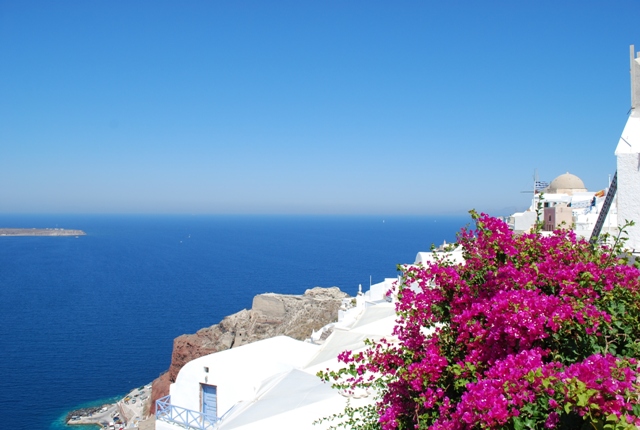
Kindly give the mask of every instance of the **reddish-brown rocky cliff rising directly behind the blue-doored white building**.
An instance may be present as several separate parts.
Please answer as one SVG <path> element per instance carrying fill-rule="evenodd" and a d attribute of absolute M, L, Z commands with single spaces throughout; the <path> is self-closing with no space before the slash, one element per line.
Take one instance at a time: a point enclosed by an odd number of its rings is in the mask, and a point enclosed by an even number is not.
<path fill-rule="evenodd" d="M 313 330 L 338 319 L 338 309 L 345 297 L 348 295 L 337 287 L 316 287 L 302 296 L 260 294 L 253 298 L 250 310 L 230 315 L 195 334 L 177 337 L 169 370 L 153 381 L 152 410 L 155 411 L 156 399 L 169 394 L 169 385 L 189 361 L 273 336 L 304 340 Z"/>

